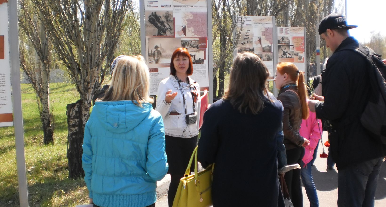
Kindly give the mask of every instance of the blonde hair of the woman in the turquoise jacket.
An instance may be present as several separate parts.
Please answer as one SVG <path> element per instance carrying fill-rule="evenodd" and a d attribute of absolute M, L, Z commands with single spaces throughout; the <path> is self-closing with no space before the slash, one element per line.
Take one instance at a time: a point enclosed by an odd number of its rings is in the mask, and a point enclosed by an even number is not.
<path fill-rule="evenodd" d="M 110 88 L 102 100 L 132 101 L 142 107 L 141 101 L 154 102 L 149 96 L 149 83 L 149 68 L 142 56 L 121 57 L 115 66 Z"/>

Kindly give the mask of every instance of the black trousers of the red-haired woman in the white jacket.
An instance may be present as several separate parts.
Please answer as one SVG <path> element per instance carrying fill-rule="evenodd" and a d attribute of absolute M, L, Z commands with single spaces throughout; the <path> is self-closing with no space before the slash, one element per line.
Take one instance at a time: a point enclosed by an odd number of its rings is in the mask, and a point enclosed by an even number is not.
<path fill-rule="evenodd" d="M 165 135 L 166 155 L 168 157 L 169 171 L 171 180 L 168 190 L 168 205 L 172 207 L 176 196 L 179 180 L 184 177 L 186 168 L 193 150 L 197 146 L 198 136 L 192 138 L 180 138 Z M 191 169 L 194 169 L 192 165 Z"/>

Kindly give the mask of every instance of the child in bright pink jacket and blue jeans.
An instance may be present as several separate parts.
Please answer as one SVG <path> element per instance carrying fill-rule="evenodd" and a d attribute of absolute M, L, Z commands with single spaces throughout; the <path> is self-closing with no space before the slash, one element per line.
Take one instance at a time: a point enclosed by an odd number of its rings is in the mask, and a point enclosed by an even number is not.
<path fill-rule="evenodd" d="M 322 138 L 322 123 L 320 119 L 316 118 L 315 112 L 310 111 L 308 119 L 302 121 L 300 127 L 300 136 L 310 141 L 310 145 L 305 146 L 305 154 L 301 160 L 301 181 L 306 190 L 308 200 L 310 201 L 310 207 L 319 207 L 318 194 L 316 192 L 315 183 L 312 179 L 312 167 L 311 160 L 313 152 Z"/>

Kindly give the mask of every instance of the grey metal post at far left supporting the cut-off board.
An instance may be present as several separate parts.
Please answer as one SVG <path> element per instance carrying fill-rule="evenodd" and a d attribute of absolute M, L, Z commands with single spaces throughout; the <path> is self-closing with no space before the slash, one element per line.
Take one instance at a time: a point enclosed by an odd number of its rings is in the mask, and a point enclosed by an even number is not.
<path fill-rule="evenodd" d="M 20 207 L 28 207 L 27 174 L 25 172 L 22 98 L 20 91 L 19 35 L 17 31 L 17 1 L 8 1 L 8 32 L 11 65 L 12 105 L 14 113 L 17 178 Z"/>

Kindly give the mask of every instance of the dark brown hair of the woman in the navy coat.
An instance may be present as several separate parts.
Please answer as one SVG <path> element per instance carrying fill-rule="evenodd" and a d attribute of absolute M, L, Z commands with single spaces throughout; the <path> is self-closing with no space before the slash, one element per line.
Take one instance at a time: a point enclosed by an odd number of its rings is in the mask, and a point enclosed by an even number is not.
<path fill-rule="evenodd" d="M 223 99 L 230 100 L 240 113 L 258 114 L 264 108 L 269 72 L 259 56 L 251 52 L 237 54 L 230 69 L 230 81 Z"/>

